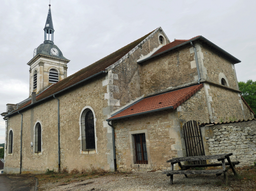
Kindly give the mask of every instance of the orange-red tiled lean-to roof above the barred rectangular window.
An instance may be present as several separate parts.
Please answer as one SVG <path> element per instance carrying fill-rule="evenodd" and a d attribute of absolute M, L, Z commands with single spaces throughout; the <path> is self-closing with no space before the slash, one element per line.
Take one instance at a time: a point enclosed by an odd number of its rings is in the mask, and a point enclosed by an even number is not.
<path fill-rule="evenodd" d="M 173 106 L 176 109 L 180 104 L 186 101 L 189 97 L 194 95 L 198 90 L 203 87 L 203 84 L 186 87 L 170 91 L 167 93 L 145 97 L 141 101 L 135 103 L 129 108 L 117 113 L 115 116 L 109 118 L 114 120 L 120 117 L 129 117 L 130 115 L 139 114 L 147 111 L 153 111 Z M 108 120 L 109 120 L 108 119 Z"/>

